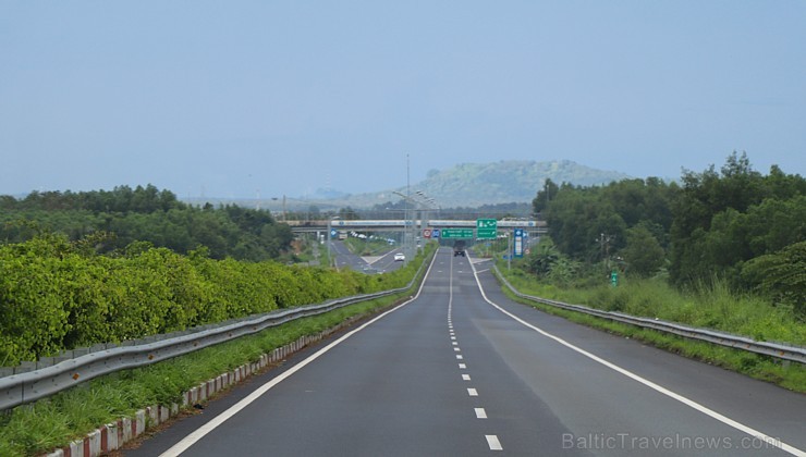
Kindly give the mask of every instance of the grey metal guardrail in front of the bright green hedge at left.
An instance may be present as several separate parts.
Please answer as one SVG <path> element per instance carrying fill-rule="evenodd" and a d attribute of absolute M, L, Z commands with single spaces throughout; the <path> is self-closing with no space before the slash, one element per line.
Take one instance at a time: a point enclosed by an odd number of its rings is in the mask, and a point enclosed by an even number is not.
<path fill-rule="evenodd" d="M 154 343 L 97 350 L 60 361 L 50 367 L 0 378 L 0 410 L 45 398 L 82 382 L 115 371 L 157 363 L 241 336 L 255 334 L 295 319 L 322 314 L 347 305 L 402 293 L 415 284 L 426 263 L 427 259 L 420 264 L 412 281 L 404 287 L 340 298 L 318 305 L 271 311 L 258 317 L 241 319 L 234 323 L 213 328 L 206 326 L 203 328 L 204 330 L 191 334 L 185 332 L 180 336 L 166 335 L 169 337 Z M 148 339 L 145 338 L 145 341 Z M 83 351 L 88 350 L 90 349 L 83 349 Z"/>

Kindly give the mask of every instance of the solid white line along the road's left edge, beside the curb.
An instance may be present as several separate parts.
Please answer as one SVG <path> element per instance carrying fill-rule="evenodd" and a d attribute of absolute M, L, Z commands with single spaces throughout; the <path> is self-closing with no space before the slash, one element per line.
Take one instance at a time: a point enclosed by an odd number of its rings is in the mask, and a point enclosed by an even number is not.
<path fill-rule="evenodd" d="M 235 405 L 232 405 L 230 408 L 228 408 L 225 411 L 221 412 L 220 415 L 212 418 L 210 421 L 205 423 L 204 425 L 199 427 L 193 433 L 188 434 L 181 441 L 179 441 L 176 444 L 171 446 L 169 449 L 167 449 L 164 453 L 160 454 L 160 457 L 175 457 L 180 454 L 187 450 L 191 446 L 196 444 L 199 440 L 202 440 L 205 435 L 213 431 L 216 428 L 224 423 L 228 419 L 239 413 L 242 409 L 246 408 L 249 404 L 258 399 L 262 394 L 269 392 L 273 386 L 277 384 L 280 384 L 285 379 L 290 378 L 292 374 L 296 373 L 297 371 L 302 370 L 305 366 L 313 362 L 314 360 L 318 359 L 319 356 L 323 355 L 328 350 L 332 349 L 333 347 L 338 346 L 349 337 L 353 336 L 354 334 L 361 332 L 362 330 L 366 329 L 367 326 L 371 325 L 376 321 L 379 321 L 380 319 L 384 318 L 387 314 L 390 314 L 404 306 L 411 304 L 412 301 L 416 300 L 419 297 L 419 294 L 423 292 L 423 287 L 426 284 L 426 280 L 428 279 L 428 274 L 431 271 L 431 267 L 433 267 L 433 261 L 437 258 L 437 255 L 435 254 L 433 258 L 431 259 L 431 264 L 428 265 L 428 270 L 426 271 L 426 274 L 423 276 L 423 282 L 419 285 L 419 288 L 417 289 L 417 295 L 412 297 L 410 300 L 404 301 L 396 307 L 377 316 L 376 318 L 369 320 L 365 324 L 361 325 L 359 328 L 345 333 L 343 336 L 341 336 L 339 339 L 330 343 L 329 345 L 322 347 L 321 349 L 317 350 L 316 353 L 312 354 L 306 358 L 305 360 L 302 360 L 300 363 L 296 363 L 295 366 L 291 367 L 283 373 L 279 374 L 278 376 L 273 378 L 266 384 L 258 387 L 255 392 L 251 393 L 249 395 L 245 396 L 243 399 L 241 399 Z"/>

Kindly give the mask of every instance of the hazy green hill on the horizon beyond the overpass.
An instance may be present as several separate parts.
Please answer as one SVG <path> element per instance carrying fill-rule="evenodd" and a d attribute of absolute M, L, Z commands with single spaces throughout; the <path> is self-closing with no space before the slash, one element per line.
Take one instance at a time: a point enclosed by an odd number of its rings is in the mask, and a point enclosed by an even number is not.
<path fill-rule="evenodd" d="M 547 178 L 557 184 L 593 186 L 628 178 L 624 173 L 602 171 L 570 160 L 537 162 L 502 160 L 492 163 L 461 163 L 448 170 L 431 170 L 427 177 L 412 185 L 433 198 L 442 208 L 478 207 L 509 202 L 530 202 Z M 405 188 L 350 195 L 338 198 L 354 208 L 396 201 Z"/>

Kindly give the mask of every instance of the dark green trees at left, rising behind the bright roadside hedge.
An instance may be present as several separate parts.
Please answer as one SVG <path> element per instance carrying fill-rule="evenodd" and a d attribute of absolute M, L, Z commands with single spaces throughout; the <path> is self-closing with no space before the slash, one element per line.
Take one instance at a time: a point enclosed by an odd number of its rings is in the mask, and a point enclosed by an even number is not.
<path fill-rule="evenodd" d="M 89 234 L 102 252 L 149 242 L 187 254 L 199 246 L 210 257 L 261 261 L 289 250 L 291 228 L 267 211 L 237 206 L 185 205 L 152 185 L 113 190 L 30 193 L 23 199 L 0 196 L 0 243 L 20 243 L 41 231 L 64 233 L 71 240 Z"/>

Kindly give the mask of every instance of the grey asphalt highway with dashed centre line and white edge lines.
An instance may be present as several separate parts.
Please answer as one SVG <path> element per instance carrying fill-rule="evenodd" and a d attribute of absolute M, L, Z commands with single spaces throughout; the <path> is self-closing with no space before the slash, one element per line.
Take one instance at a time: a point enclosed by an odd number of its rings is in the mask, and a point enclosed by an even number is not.
<path fill-rule="evenodd" d="M 806 397 L 506 299 L 440 249 L 412 300 L 126 456 L 806 455 Z"/>

